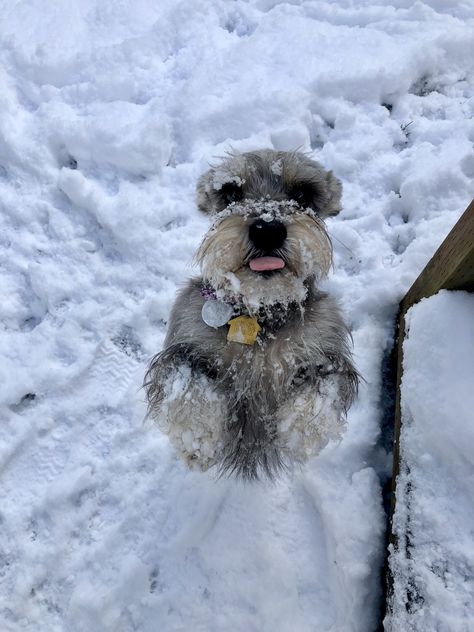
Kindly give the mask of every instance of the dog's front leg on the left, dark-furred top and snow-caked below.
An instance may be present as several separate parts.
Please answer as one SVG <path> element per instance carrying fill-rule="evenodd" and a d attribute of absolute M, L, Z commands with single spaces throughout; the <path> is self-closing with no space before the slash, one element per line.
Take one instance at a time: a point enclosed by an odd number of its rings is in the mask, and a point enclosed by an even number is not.
<path fill-rule="evenodd" d="M 212 363 L 183 344 L 158 354 L 145 377 L 149 415 L 192 469 L 207 470 L 222 451 L 227 405 L 216 378 Z"/>

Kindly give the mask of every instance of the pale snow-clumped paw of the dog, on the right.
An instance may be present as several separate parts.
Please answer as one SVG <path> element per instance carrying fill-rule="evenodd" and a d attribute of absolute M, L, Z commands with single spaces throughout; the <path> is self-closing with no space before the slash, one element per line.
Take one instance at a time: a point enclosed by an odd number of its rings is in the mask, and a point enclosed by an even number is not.
<path fill-rule="evenodd" d="M 277 443 L 288 456 L 304 462 L 318 454 L 345 429 L 340 376 L 328 375 L 315 385 L 306 383 L 278 410 Z"/>

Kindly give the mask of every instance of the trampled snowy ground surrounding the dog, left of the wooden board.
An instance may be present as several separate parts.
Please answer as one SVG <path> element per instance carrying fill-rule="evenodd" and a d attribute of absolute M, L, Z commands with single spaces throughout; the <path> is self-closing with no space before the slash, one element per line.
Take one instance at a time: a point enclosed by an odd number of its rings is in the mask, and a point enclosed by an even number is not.
<path fill-rule="evenodd" d="M 2 3 L 2 632 L 375 629 L 380 366 L 474 194 L 473 24 L 451 0 Z M 343 182 L 326 288 L 365 382 L 340 442 L 244 486 L 178 462 L 140 385 L 208 228 L 197 178 L 264 147 Z"/>

